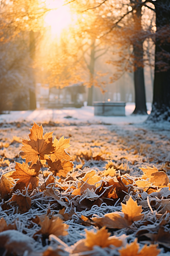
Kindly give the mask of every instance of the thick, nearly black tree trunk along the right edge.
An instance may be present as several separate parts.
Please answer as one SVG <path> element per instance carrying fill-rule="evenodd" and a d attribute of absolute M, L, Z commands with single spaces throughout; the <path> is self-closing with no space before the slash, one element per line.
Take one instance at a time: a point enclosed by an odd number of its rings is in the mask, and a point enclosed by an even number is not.
<path fill-rule="evenodd" d="M 154 98 L 148 120 L 170 121 L 169 0 L 157 0 L 154 5 L 156 11 Z"/>

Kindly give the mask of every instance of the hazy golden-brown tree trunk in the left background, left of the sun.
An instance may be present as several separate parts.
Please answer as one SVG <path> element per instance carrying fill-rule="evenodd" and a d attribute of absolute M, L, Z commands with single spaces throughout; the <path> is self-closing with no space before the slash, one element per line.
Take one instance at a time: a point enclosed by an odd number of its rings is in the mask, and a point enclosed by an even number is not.
<path fill-rule="evenodd" d="M 32 61 L 35 59 L 35 32 L 29 32 L 29 53 Z M 32 70 L 33 72 L 33 70 Z M 33 74 L 33 84 L 31 88 L 29 88 L 29 109 L 35 110 L 36 109 L 36 85 L 35 85 L 35 78 Z"/>

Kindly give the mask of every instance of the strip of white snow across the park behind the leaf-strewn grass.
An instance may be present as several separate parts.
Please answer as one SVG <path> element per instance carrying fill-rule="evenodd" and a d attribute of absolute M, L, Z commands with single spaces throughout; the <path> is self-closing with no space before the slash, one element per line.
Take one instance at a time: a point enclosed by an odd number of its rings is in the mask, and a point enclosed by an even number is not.
<path fill-rule="evenodd" d="M 135 108 L 134 103 L 127 103 L 125 117 L 101 117 L 94 115 L 93 106 L 84 106 L 80 109 L 36 109 L 34 111 L 11 111 L 9 114 L 0 115 L 0 122 L 64 122 L 64 123 L 141 123 L 147 119 L 147 115 L 130 115 Z M 147 104 L 148 113 L 151 111 L 151 104 Z"/>

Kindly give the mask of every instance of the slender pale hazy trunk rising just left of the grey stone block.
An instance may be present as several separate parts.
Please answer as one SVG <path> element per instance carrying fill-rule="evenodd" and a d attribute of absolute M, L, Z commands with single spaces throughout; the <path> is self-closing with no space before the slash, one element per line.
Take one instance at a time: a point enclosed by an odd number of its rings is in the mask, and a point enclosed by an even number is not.
<path fill-rule="evenodd" d="M 91 85 L 91 87 L 88 88 L 87 106 L 92 106 L 93 105 L 93 97 L 94 97 L 95 39 L 92 39 L 89 69 L 90 69 L 90 85 Z"/>

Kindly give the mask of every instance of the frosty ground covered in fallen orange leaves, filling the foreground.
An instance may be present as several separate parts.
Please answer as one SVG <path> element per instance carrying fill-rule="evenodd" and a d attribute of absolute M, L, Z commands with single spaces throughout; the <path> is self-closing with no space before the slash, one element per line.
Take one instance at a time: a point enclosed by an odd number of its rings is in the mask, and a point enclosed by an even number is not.
<path fill-rule="evenodd" d="M 1 130 L 0 255 L 170 255 L 168 133 L 26 130 Z"/>

